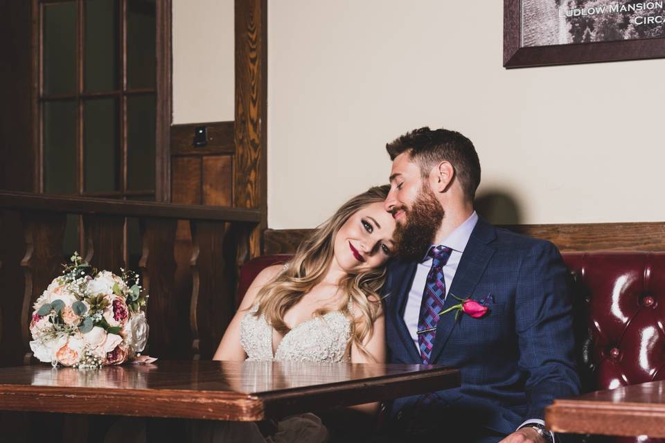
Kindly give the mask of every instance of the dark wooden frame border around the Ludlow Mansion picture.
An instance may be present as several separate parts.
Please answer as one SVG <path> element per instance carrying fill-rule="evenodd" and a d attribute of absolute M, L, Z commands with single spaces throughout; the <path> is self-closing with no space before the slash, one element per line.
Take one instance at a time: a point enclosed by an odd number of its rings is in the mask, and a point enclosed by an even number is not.
<path fill-rule="evenodd" d="M 540 0 L 504 0 L 504 67 L 506 69 L 665 57 L 665 37 L 544 44 L 542 46 L 525 45 L 522 38 L 524 35 L 522 8 L 525 2 L 533 1 Z M 565 0 L 548 1 L 560 3 Z M 610 3 L 612 5 L 621 4 L 622 0 L 608 0 L 608 4 Z M 623 3 L 634 2 L 623 0 Z M 644 19 L 641 20 L 644 21 Z"/>

